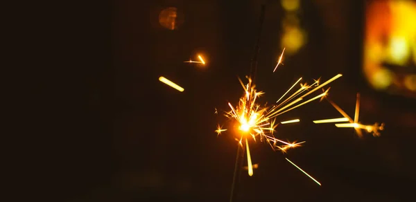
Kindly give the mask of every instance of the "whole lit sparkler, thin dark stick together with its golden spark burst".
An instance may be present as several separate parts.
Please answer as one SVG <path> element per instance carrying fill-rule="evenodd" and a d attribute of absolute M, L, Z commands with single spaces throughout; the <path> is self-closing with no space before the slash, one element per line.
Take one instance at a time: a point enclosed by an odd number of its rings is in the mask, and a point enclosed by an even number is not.
<path fill-rule="evenodd" d="M 302 80 L 302 77 L 291 86 L 284 95 L 277 100 L 275 104 L 272 106 L 267 106 L 264 104 L 261 106 L 258 103 L 258 99 L 263 95 L 262 91 L 257 91 L 256 86 L 254 84 L 255 82 L 255 75 L 257 72 L 257 55 L 259 53 L 259 39 L 261 34 L 261 28 L 263 24 L 264 19 L 264 11 L 265 6 L 261 6 L 261 12 L 260 12 L 260 26 L 259 26 L 259 33 L 257 36 L 257 43 L 254 46 L 254 55 L 252 57 L 251 62 L 251 69 L 250 69 L 250 76 L 247 77 L 248 83 L 243 84 L 243 82 L 239 79 L 239 82 L 241 83 L 241 86 L 243 86 L 244 89 L 244 95 L 239 99 L 239 104 L 237 104 L 235 107 L 228 102 L 228 106 L 230 108 L 230 111 L 225 113 L 225 116 L 229 120 L 234 120 L 238 127 L 238 135 L 239 138 L 236 138 L 236 140 L 239 142 L 239 147 L 237 147 L 237 156 L 236 156 L 236 164 L 234 167 L 234 177 L 233 177 L 233 183 L 232 183 L 232 190 L 231 190 L 231 198 L 230 201 L 233 201 L 233 199 L 236 196 L 236 190 L 238 187 L 238 181 L 239 181 L 239 174 L 241 172 L 242 166 L 242 160 L 244 157 L 244 153 L 246 150 L 247 154 L 247 162 L 248 162 L 248 175 L 253 175 L 253 165 L 252 165 L 252 158 L 250 156 L 250 147 L 249 147 L 249 139 L 254 140 L 254 142 L 257 142 L 257 140 L 260 140 L 261 142 L 267 142 L 270 147 L 272 147 L 273 150 L 279 149 L 281 152 L 286 152 L 286 150 L 300 147 L 302 143 L 295 143 L 284 141 L 276 138 L 273 136 L 273 131 L 275 131 L 275 128 L 277 125 L 275 125 L 275 121 L 277 116 L 280 116 L 283 113 L 286 113 L 288 111 L 292 111 L 293 109 L 297 109 L 297 107 L 301 107 L 304 104 L 307 104 L 309 102 L 312 102 L 313 100 L 321 99 L 327 95 L 329 89 L 326 91 L 323 89 L 324 86 L 327 84 L 333 82 L 334 80 L 337 80 L 339 77 L 341 77 L 341 74 L 335 75 L 331 79 L 327 80 L 326 82 L 320 84 L 320 80 L 315 80 L 315 82 L 311 85 L 308 85 L 306 83 L 300 84 L 300 89 L 295 91 L 295 93 L 292 93 L 286 100 L 283 102 L 279 101 L 285 97 L 286 94 L 288 94 L 295 86 L 297 86 L 297 83 Z M 285 50 L 285 48 L 284 48 Z M 284 50 L 282 51 L 279 61 L 277 62 L 277 65 L 275 66 L 275 69 L 273 72 L 276 71 L 277 66 L 281 64 Z M 204 60 L 200 58 L 200 61 L 205 64 Z M 319 95 L 315 95 L 313 98 L 307 98 L 308 95 L 311 95 L 315 91 L 318 91 L 319 89 L 324 90 L 323 93 L 320 93 Z M 278 104 L 279 103 L 279 104 Z M 288 124 L 292 122 L 300 122 L 299 119 L 297 120 L 288 120 L 288 121 L 282 121 L 280 122 L 283 124 Z M 216 133 L 220 135 L 223 131 L 226 131 L 227 129 L 222 129 L 220 125 L 218 125 L 216 129 Z M 244 145 L 245 144 L 245 145 Z M 286 158 L 287 159 L 287 158 Z M 290 161 L 290 160 L 289 160 Z M 293 164 L 294 165 L 294 164 Z M 295 165 L 296 166 L 296 165 Z M 296 166 L 297 167 L 297 166 Z M 299 167 L 297 167 L 300 169 Z M 300 169 L 302 170 L 302 169 Z M 303 171 L 302 171 L 303 172 Z M 304 172 L 306 174 L 306 172 Z M 309 176 L 309 174 L 306 174 Z M 309 176 L 311 177 L 311 176 Z M 318 181 L 317 181 L 318 182 Z M 320 184 L 320 183 L 318 183 Z"/>

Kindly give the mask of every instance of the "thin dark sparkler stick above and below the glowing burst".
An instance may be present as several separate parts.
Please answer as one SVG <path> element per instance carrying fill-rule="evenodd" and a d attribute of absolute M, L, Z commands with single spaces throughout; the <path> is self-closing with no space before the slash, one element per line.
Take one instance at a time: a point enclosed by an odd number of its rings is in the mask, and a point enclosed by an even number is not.
<path fill-rule="evenodd" d="M 257 56 L 259 55 L 259 42 L 260 42 L 260 36 L 261 36 L 261 30 L 263 28 L 263 21 L 264 21 L 264 12 L 266 11 L 266 6 L 261 5 L 261 11 L 260 11 L 260 23 L 257 33 L 257 41 L 256 44 L 254 44 L 254 53 L 250 65 L 250 78 L 252 79 L 252 82 L 255 82 L 256 74 L 257 74 Z M 241 175 L 241 169 L 243 168 L 243 160 L 244 160 L 244 153 L 245 153 L 245 143 L 243 141 L 241 145 L 237 148 L 237 155 L 236 155 L 236 164 L 234 165 L 234 175 L 232 178 L 232 187 L 231 187 L 231 196 L 229 197 L 229 201 L 233 202 L 236 201 L 237 193 L 239 190 L 239 182 L 240 182 L 240 175 Z"/>

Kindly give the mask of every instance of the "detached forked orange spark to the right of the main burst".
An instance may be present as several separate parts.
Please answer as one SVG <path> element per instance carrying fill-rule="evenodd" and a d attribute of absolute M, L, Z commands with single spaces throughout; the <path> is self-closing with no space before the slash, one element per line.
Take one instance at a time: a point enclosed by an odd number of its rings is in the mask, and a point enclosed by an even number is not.
<path fill-rule="evenodd" d="M 374 123 L 374 125 L 362 125 L 361 123 L 358 122 L 358 116 L 360 113 L 360 94 L 357 93 L 357 98 L 356 98 L 356 108 L 355 108 L 355 113 L 354 113 L 354 120 L 348 116 L 347 113 L 345 113 L 345 111 L 343 109 L 341 109 L 337 104 L 335 104 L 334 102 L 332 102 L 331 100 L 329 100 L 329 98 L 327 98 L 328 102 L 331 103 L 331 105 L 333 106 L 333 108 L 335 108 L 339 113 L 341 113 L 341 115 L 344 116 L 344 118 L 332 118 L 332 119 L 326 119 L 326 120 L 314 120 L 313 122 L 319 124 L 319 123 L 330 123 L 330 122 L 345 122 L 348 121 L 349 123 L 338 123 L 335 126 L 336 127 L 352 127 L 355 129 L 357 135 L 359 137 L 363 136 L 363 132 L 361 131 L 362 129 L 364 129 L 365 131 L 367 131 L 367 133 L 372 133 L 373 136 L 380 136 L 380 131 L 384 129 L 384 123 L 381 123 L 381 125 L 379 125 L 379 123 Z"/>

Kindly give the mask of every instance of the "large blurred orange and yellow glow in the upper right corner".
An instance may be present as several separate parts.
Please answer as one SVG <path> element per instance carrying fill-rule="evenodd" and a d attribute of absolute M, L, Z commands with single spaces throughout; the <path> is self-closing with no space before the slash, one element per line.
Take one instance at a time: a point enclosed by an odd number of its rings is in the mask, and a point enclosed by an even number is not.
<path fill-rule="evenodd" d="M 408 73 L 398 71 L 416 64 L 416 21 L 410 20 L 416 19 L 415 1 L 368 1 L 365 15 L 367 81 L 374 89 L 416 93 L 406 87 Z"/>

